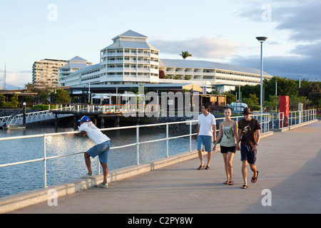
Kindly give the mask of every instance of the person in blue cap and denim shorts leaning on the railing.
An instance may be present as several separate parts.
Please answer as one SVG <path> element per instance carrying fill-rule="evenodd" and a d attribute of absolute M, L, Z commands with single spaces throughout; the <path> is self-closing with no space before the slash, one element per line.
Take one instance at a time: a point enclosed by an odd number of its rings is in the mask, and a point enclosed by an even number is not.
<path fill-rule="evenodd" d="M 81 132 L 81 136 L 88 135 L 88 137 L 96 144 L 91 147 L 87 152 L 85 152 L 85 162 L 88 169 L 88 174 L 81 178 L 91 178 L 93 172 L 91 171 L 91 157 L 99 156 L 99 161 L 101 162 L 101 166 L 103 167 L 103 182 L 96 187 L 108 187 L 107 183 L 107 175 L 108 175 L 108 153 L 111 147 L 111 143 L 109 142 L 111 139 L 104 135 L 101 130 L 99 130 L 96 125 L 91 122 L 88 116 L 83 116 L 80 120 L 79 131 Z"/>

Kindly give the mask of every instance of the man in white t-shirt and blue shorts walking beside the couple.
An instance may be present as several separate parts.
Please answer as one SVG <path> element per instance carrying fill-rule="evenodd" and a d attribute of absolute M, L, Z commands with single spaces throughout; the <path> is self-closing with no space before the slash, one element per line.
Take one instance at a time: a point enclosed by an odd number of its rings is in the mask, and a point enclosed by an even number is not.
<path fill-rule="evenodd" d="M 202 147 L 208 152 L 208 164 L 205 170 L 210 169 L 210 160 L 212 158 L 213 140 L 216 140 L 216 121 L 214 115 L 210 113 L 210 105 L 202 105 L 202 114 L 198 116 L 198 157 L 200 157 L 200 167 L 205 167 Z M 214 136 L 214 137 L 213 137 Z"/>

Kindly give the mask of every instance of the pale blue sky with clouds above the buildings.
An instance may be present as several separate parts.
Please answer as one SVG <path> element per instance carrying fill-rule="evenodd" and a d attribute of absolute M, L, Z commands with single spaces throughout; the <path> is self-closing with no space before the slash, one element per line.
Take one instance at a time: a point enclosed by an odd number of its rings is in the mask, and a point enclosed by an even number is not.
<path fill-rule="evenodd" d="M 99 63 L 112 38 L 148 36 L 160 58 L 214 61 L 321 81 L 320 0 L 0 0 L 0 86 L 32 83 L 32 65 L 74 56 Z"/>

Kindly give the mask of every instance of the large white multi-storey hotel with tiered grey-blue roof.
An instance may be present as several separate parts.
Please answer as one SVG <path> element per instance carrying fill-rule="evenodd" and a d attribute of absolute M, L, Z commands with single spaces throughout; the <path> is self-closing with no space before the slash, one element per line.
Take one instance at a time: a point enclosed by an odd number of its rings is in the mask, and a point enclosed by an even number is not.
<path fill-rule="evenodd" d="M 59 78 L 59 86 L 133 83 L 195 83 L 211 90 L 260 84 L 260 69 L 210 61 L 161 59 L 147 36 L 128 30 L 100 52 L 101 62 Z M 161 77 L 160 77 L 161 73 Z M 263 79 L 270 79 L 263 72 Z"/>

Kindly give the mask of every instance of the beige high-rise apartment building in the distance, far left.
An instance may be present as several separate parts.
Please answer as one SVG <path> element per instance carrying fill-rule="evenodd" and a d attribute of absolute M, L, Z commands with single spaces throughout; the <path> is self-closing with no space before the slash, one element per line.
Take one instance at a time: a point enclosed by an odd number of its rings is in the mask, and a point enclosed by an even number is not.
<path fill-rule="evenodd" d="M 57 87 L 59 68 L 67 61 L 58 59 L 42 59 L 32 66 L 32 84 L 36 88 Z"/>

